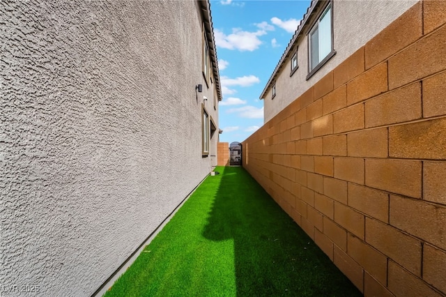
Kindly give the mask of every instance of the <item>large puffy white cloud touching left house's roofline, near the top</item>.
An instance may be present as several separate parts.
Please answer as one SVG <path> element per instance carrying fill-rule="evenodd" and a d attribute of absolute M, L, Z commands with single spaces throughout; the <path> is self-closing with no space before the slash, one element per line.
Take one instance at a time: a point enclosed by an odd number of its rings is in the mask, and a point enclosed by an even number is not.
<path fill-rule="evenodd" d="M 215 29 L 215 44 L 217 47 L 222 47 L 228 50 L 239 50 L 252 52 L 257 50 L 262 44 L 259 36 L 265 35 L 266 31 L 261 29 L 255 32 L 243 31 L 241 29 L 232 29 L 229 35 L 222 31 Z"/>

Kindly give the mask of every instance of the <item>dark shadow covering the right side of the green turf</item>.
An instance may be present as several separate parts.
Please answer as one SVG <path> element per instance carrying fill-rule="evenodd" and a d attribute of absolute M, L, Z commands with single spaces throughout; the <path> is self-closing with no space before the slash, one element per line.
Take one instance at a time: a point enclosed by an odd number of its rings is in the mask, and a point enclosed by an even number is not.
<path fill-rule="evenodd" d="M 233 240 L 237 296 L 361 296 L 242 167 L 219 168 L 203 236 Z"/>

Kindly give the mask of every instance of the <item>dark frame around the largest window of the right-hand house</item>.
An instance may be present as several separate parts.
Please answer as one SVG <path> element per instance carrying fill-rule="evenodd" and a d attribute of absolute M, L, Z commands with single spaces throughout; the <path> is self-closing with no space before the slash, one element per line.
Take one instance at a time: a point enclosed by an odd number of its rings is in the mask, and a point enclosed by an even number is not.
<path fill-rule="evenodd" d="M 330 9 L 330 43 L 331 43 L 331 50 L 330 52 L 322 59 L 321 57 L 319 57 L 319 61 L 316 64 L 316 66 L 314 66 L 314 68 L 312 69 L 312 33 L 319 28 L 319 24 L 321 22 L 321 20 L 323 19 L 323 17 L 325 17 L 328 14 L 328 9 Z M 316 17 L 316 19 L 314 20 L 312 26 L 310 26 L 309 31 L 307 32 L 307 41 L 308 41 L 308 75 L 306 80 L 308 80 L 310 77 L 312 77 L 314 75 L 314 73 L 316 73 L 319 69 L 322 68 L 322 66 L 325 65 L 325 63 L 327 63 L 332 56 L 334 56 L 334 54 L 336 54 L 336 51 L 334 50 L 334 26 L 333 26 L 333 1 L 329 1 L 327 3 L 327 5 L 325 5 L 323 7 L 323 9 L 321 9 L 321 12 L 318 13 L 318 17 Z M 319 33 L 318 33 L 318 41 L 319 39 Z M 318 45 L 318 49 L 320 49 L 319 45 Z"/>

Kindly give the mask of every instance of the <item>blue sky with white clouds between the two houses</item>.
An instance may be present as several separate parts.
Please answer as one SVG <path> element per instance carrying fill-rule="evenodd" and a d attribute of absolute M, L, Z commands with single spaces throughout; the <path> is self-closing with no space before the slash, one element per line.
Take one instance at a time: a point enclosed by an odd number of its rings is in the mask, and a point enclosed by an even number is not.
<path fill-rule="evenodd" d="M 259 96 L 309 2 L 210 1 L 223 91 L 220 142 L 242 142 L 263 125 Z"/>

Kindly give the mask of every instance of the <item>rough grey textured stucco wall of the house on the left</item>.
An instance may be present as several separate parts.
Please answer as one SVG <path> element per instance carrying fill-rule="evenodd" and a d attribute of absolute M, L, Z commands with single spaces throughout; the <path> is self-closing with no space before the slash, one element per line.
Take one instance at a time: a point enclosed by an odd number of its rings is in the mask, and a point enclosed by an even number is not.
<path fill-rule="evenodd" d="M 1 296 L 90 296 L 208 174 L 201 26 L 195 1 L 0 1 Z"/>

